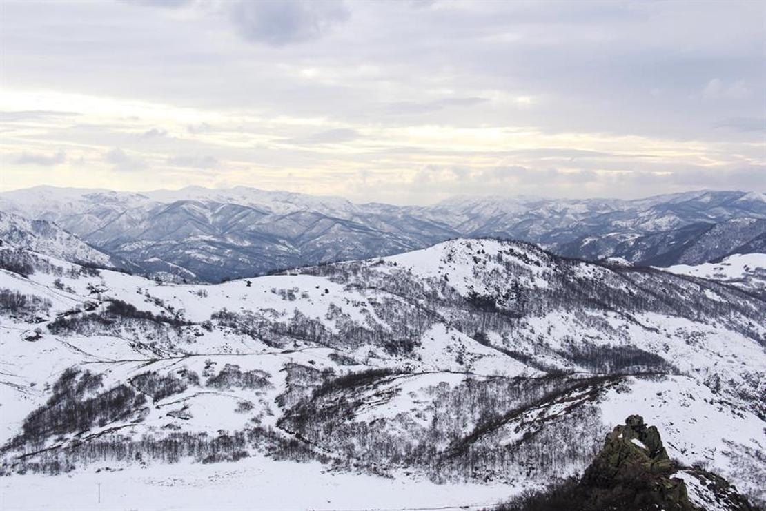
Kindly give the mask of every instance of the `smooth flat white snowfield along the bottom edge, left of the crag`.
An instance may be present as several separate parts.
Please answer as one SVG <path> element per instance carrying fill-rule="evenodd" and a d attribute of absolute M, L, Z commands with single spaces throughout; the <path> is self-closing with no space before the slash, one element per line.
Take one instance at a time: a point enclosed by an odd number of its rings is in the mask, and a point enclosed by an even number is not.
<path fill-rule="evenodd" d="M 101 502 L 98 503 L 100 485 Z M 483 509 L 519 488 L 434 484 L 355 473 L 318 463 L 250 457 L 231 464 L 172 464 L 122 471 L 0 479 L 2 509 Z"/>

